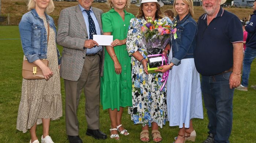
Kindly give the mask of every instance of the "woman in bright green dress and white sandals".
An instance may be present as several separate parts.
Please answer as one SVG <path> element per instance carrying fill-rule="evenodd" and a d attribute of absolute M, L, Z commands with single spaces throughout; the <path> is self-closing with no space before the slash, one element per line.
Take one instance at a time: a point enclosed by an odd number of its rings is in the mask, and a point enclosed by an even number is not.
<path fill-rule="evenodd" d="M 128 135 L 121 124 L 124 107 L 132 106 L 131 57 L 126 50 L 126 36 L 134 15 L 124 10 L 130 0 L 108 0 L 110 11 L 102 14 L 104 35 L 113 35 L 111 46 L 105 48 L 104 74 L 101 78 L 101 104 L 108 109 L 110 138 L 119 140 L 120 134 Z"/>

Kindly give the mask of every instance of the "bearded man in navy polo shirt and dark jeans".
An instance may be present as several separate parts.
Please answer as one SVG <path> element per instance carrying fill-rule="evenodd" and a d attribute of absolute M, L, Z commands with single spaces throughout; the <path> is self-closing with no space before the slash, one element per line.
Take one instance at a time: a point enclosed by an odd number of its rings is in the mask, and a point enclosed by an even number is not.
<path fill-rule="evenodd" d="M 236 15 L 225 11 L 226 0 L 202 0 L 206 12 L 198 20 L 194 59 L 202 74 L 201 89 L 209 119 L 203 143 L 229 143 L 234 88 L 240 85 L 243 31 Z"/>

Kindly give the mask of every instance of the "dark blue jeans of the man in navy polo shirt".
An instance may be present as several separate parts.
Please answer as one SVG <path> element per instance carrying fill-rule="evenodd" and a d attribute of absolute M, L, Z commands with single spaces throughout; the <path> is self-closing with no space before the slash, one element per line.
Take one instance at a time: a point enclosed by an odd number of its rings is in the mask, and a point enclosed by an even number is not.
<path fill-rule="evenodd" d="M 214 143 L 229 143 L 234 94 L 234 89 L 229 88 L 230 74 L 202 76 L 201 89 L 209 119 L 208 133 L 214 136 Z"/>

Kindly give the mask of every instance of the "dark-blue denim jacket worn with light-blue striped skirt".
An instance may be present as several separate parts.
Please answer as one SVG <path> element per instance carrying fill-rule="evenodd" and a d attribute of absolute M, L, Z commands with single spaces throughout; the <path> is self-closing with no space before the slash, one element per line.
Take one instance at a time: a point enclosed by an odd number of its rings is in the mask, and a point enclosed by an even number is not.
<path fill-rule="evenodd" d="M 181 59 L 194 58 L 193 51 L 196 47 L 197 24 L 195 20 L 188 13 L 181 21 L 179 16 L 177 21 L 177 37 L 172 38 L 172 55 L 170 62 L 174 65 L 180 65 Z"/>

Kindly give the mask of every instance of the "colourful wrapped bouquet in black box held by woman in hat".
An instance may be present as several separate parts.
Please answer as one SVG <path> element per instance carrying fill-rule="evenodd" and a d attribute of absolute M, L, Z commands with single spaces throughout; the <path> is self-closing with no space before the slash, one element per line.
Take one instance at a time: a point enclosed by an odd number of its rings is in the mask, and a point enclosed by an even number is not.
<path fill-rule="evenodd" d="M 144 53 L 148 57 L 148 73 L 157 73 L 155 70 L 161 65 L 167 64 L 166 55 L 161 54 L 169 40 L 174 35 L 176 39 L 177 35 L 174 32 L 176 23 L 171 24 L 165 22 L 155 22 L 151 17 L 146 17 L 147 22 L 141 27 L 141 33 L 144 39 L 141 45 L 145 45 L 147 53 Z"/>

